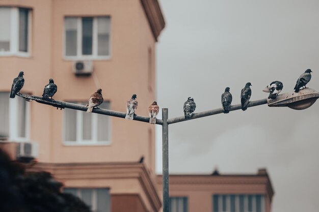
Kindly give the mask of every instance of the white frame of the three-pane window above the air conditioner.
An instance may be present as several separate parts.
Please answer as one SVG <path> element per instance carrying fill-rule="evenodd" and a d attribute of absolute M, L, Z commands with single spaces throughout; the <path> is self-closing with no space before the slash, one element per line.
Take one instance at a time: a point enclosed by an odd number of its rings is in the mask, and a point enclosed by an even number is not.
<path fill-rule="evenodd" d="M 93 18 L 93 36 L 92 36 L 92 55 L 83 55 L 82 54 L 82 18 L 92 17 Z M 98 55 L 98 26 L 97 18 L 98 17 L 108 17 L 110 19 L 110 34 L 109 34 L 109 55 Z M 65 19 L 66 18 L 76 18 L 76 55 L 68 56 L 66 55 L 66 27 Z M 63 58 L 65 60 L 109 60 L 112 55 L 112 23 L 110 15 L 99 15 L 99 16 L 64 16 L 63 19 Z"/>

